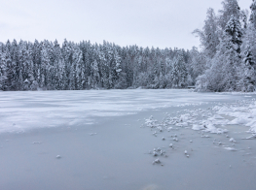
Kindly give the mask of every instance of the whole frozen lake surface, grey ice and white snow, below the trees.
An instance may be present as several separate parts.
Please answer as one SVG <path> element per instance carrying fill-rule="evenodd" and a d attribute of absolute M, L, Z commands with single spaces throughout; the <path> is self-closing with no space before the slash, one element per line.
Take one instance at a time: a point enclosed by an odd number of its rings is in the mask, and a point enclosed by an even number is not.
<path fill-rule="evenodd" d="M 0 92 L 0 189 L 254 190 L 255 97 Z"/>

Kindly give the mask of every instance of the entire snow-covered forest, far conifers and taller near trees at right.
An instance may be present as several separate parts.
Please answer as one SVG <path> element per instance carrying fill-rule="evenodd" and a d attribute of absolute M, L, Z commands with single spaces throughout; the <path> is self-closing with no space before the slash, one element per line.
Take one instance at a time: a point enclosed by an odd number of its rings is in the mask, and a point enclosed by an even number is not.
<path fill-rule="evenodd" d="M 0 43 L 0 90 L 187 88 L 244 91 L 256 88 L 256 0 L 240 10 L 224 0 L 208 9 L 193 34 L 201 47 L 120 47 L 66 39 Z M 171 33 L 170 33 L 171 35 Z"/>

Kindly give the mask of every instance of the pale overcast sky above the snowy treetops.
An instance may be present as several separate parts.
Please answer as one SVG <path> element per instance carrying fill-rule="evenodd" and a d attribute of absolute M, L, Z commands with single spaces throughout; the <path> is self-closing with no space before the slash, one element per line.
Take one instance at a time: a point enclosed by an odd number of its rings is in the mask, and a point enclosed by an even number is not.
<path fill-rule="evenodd" d="M 222 0 L 0 0 L 0 41 L 103 40 L 120 46 L 199 46 L 191 33 Z M 252 0 L 239 0 L 249 9 Z"/>

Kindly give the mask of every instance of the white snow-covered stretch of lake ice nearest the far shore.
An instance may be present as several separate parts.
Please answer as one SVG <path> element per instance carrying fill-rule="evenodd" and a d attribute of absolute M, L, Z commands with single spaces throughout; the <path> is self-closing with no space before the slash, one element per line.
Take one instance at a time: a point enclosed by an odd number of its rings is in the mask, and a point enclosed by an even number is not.
<path fill-rule="evenodd" d="M 201 105 L 213 97 L 214 100 L 228 98 L 226 95 L 200 94 L 188 90 L 1 92 L 0 133 L 22 133 L 33 128 L 92 124 L 97 117 Z M 184 123 L 179 125 L 187 126 L 188 118 L 187 114 L 181 115 L 180 120 Z"/>

